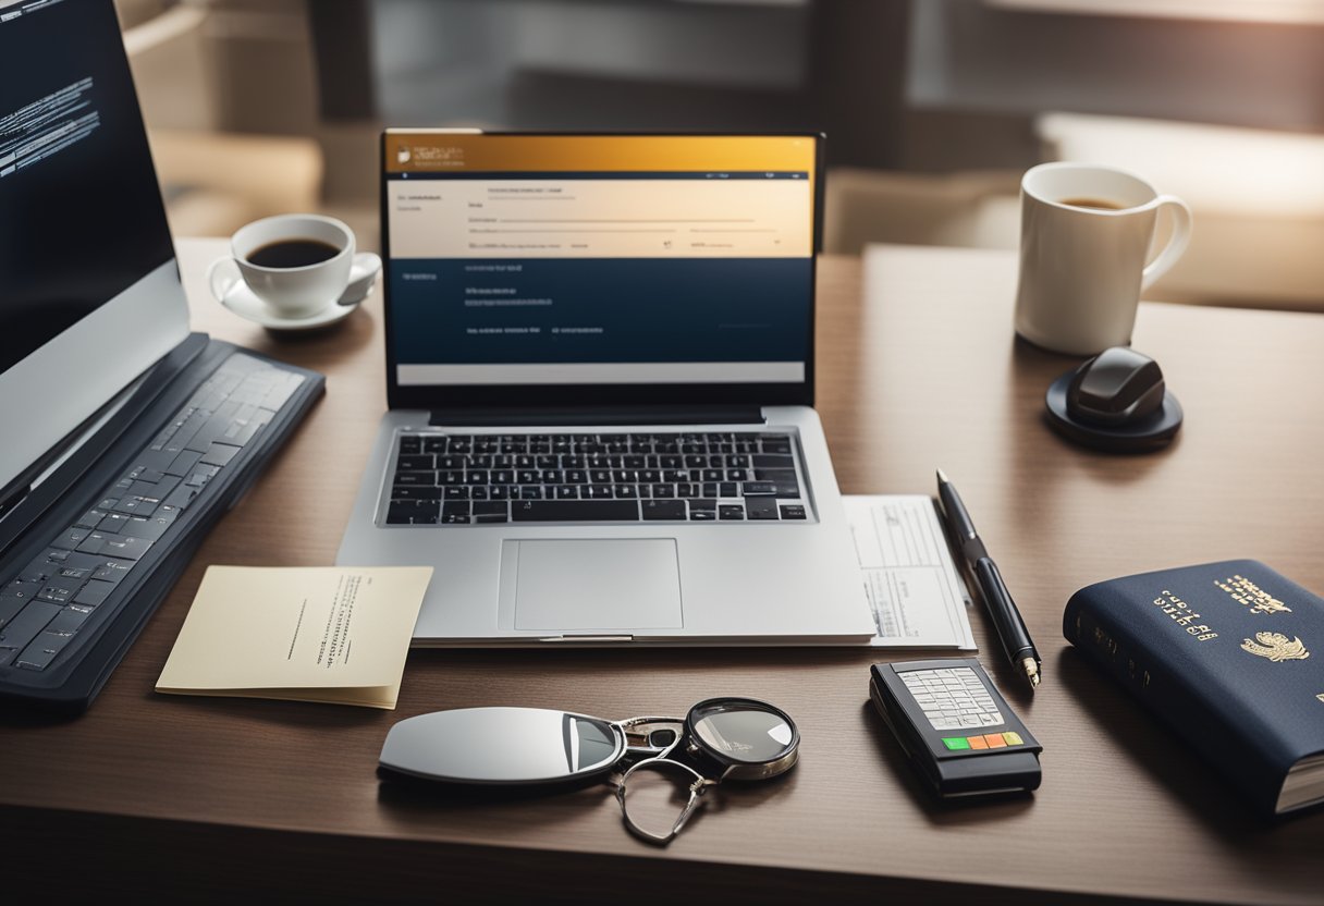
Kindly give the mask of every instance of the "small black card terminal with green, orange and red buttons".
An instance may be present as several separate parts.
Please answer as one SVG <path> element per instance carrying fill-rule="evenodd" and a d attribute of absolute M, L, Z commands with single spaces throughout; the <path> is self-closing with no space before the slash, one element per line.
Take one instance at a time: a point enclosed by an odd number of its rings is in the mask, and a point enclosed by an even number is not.
<path fill-rule="evenodd" d="M 969 658 L 875 664 L 869 697 L 943 797 L 1039 785 L 1043 747 Z"/>

